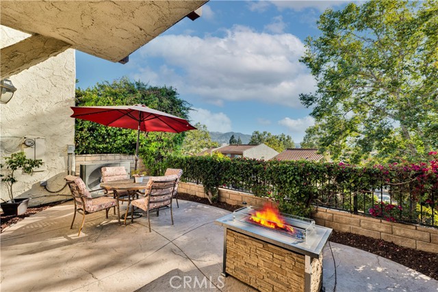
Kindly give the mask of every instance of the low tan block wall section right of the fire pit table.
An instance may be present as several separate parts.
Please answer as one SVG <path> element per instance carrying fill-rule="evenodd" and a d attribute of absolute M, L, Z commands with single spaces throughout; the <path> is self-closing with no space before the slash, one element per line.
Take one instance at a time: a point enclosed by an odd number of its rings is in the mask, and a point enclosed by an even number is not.
<path fill-rule="evenodd" d="M 312 214 L 320 226 L 394 242 L 424 252 L 438 253 L 438 228 L 387 222 L 379 218 L 355 215 L 318 207 Z"/>

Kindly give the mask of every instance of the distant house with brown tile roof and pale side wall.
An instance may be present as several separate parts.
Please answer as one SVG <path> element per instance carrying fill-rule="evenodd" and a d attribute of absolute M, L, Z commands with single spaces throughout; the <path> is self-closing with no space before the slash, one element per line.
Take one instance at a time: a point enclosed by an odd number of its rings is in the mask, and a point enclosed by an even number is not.
<path fill-rule="evenodd" d="M 259 145 L 230 144 L 218 148 L 209 148 L 207 150 L 204 150 L 203 152 L 198 153 L 197 155 L 198 156 L 207 155 L 207 154 L 211 155 L 212 152 L 220 152 L 223 155 L 230 158 L 246 157 L 253 159 L 264 159 L 264 160 L 269 160 L 275 155 L 279 154 L 279 152 L 276 152 L 276 150 L 270 148 L 269 146 L 266 146 L 265 144 L 259 144 Z"/>

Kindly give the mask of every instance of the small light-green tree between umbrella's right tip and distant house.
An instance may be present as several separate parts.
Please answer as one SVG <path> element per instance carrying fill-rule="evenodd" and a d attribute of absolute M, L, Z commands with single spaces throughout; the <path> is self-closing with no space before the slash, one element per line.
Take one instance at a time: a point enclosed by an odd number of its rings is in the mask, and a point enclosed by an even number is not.
<path fill-rule="evenodd" d="M 181 147 L 183 155 L 194 155 L 205 148 L 218 147 L 218 142 L 211 141 L 210 133 L 205 124 L 196 123 L 194 127 L 197 130 L 185 133 L 184 142 Z"/>

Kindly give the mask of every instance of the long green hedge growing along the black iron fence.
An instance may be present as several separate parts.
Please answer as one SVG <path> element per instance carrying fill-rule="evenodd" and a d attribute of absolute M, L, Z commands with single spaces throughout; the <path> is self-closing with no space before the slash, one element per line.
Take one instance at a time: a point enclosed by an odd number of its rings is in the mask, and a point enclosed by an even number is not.
<path fill-rule="evenodd" d="M 271 198 L 279 202 L 281 211 L 295 215 L 309 216 L 313 206 L 320 205 L 381 216 L 389 221 L 397 218 L 437 225 L 437 152 L 430 152 L 428 163 L 372 167 L 311 161 L 231 160 L 219 156 L 168 157 L 165 164 L 183 169 L 185 181 L 203 184 L 211 202 L 217 200 L 219 187 L 232 187 Z M 397 204 L 379 203 L 376 207 L 378 189 L 387 190 Z M 413 202 L 422 210 L 417 211 Z"/>

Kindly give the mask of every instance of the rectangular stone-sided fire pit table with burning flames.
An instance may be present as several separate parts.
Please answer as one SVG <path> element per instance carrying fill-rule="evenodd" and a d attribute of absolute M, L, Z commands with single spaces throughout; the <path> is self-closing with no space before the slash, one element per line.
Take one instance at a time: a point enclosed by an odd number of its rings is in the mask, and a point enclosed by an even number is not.
<path fill-rule="evenodd" d="M 332 229 L 272 207 L 243 207 L 216 220 L 224 227 L 224 276 L 259 291 L 320 291 L 322 249 Z"/>

